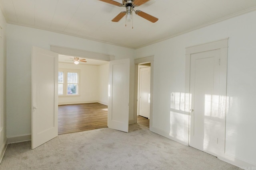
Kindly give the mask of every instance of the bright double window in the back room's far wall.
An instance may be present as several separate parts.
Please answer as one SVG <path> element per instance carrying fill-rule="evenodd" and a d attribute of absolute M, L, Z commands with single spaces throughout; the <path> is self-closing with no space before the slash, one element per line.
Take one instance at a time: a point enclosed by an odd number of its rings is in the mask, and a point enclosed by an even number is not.
<path fill-rule="evenodd" d="M 79 70 L 59 69 L 58 74 L 58 95 L 78 95 Z"/>

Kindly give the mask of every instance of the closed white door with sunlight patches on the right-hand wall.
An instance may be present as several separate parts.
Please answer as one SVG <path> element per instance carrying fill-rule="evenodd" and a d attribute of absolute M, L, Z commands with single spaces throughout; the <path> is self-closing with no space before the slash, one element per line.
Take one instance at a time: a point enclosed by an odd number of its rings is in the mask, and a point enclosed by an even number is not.
<path fill-rule="evenodd" d="M 216 156 L 220 131 L 220 50 L 191 55 L 190 146 Z"/>

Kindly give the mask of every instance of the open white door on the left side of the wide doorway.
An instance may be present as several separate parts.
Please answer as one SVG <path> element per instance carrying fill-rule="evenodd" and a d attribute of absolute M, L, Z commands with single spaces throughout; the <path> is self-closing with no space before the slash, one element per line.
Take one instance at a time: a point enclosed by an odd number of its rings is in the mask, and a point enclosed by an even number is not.
<path fill-rule="evenodd" d="M 32 149 L 58 136 L 58 54 L 32 49 Z"/>

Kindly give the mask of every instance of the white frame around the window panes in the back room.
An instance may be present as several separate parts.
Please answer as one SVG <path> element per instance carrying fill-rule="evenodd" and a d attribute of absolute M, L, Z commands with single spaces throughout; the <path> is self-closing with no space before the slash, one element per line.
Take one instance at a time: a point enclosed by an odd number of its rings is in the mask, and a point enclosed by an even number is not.
<path fill-rule="evenodd" d="M 70 96 L 80 96 L 80 70 L 78 69 L 71 69 L 71 68 L 59 68 L 58 72 L 63 72 L 63 94 L 58 94 L 59 97 L 70 97 Z M 77 73 L 77 94 L 68 94 L 68 72 L 75 72 Z"/>

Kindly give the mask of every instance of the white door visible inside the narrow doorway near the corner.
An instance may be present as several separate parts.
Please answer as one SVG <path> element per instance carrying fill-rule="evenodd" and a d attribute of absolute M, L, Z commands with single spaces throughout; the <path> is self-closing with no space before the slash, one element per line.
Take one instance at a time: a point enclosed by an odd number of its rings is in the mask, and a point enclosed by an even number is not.
<path fill-rule="evenodd" d="M 150 67 L 140 68 L 139 115 L 149 118 L 150 113 Z"/>

